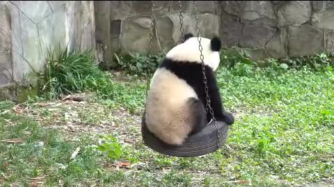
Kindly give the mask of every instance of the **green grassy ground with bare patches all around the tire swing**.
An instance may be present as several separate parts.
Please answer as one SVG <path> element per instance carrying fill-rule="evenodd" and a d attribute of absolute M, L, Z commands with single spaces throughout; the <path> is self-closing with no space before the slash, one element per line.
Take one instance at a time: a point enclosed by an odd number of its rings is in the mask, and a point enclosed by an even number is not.
<path fill-rule="evenodd" d="M 224 55 L 224 54 L 223 54 Z M 246 57 L 223 56 L 217 72 L 225 107 L 235 112 L 227 146 L 198 158 L 175 158 L 153 152 L 141 143 L 140 123 L 145 99 L 141 76 L 111 73 L 112 87 L 95 87 L 95 100 L 83 106 L 48 109 L 26 103 L 31 114 L 15 114 L 13 103 L 0 102 L 0 183 L 27 186 L 32 177 L 48 175 L 45 186 L 294 186 L 334 183 L 334 69 L 331 56 L 256 68 Z M 244 63 L 238 63 L 243 61 Z M 133 62 L 132 62 L 133 63 Z M 309 63 L 309 64 L 308 64 Z M 106 82 L 108 82 L 106 81 Z M 104 84 L 106 85 L 106 84 Z M 108 97 L 105 93 L 110 90 Z M 102 94 L 99 94 L 102 93 Z M 103 94 L 104 93 L 104 94 Z M 47 100 L 40 100 L 47 102 Z M 65 105 L 65 104 L 64 104 Z M 98 107 L 93 107 L 98 106 Z M 116 118 L 107 112 L 133 114 Z M 70 113 L 69 113 L 70 111 Z M 60 120 L 56 113 L 76 114 Z M 118 115 L 121 115 L 120 112 Z M 45 121 L 33 121 L 42 116 Z M 78 123 L 71 118 L 79 118 Z M 63 123 L 98 126 L 112 121 L 107 136 L 65 139 L 42 125 Z M 109 131 L 110 132 L 110 131 Z M 108 133 L 107 133 L 108 134 Z M 115 139 L 114 139 L 115 138 Z M 102 139 L 102 140 L 101 140 Z M 132 143 L 126 141 L 132 140 Z M 105 144 L 103 144 L 105 143 Z M 112 146 L 111 146 L 112 145 Z M 99 148 L 100 151 L 95 148 Z M 111 146 L 113 149 L 105 149 Z M 76 148 L 75 159 L 70 159 Z M 121 152 L 120 152 L 121 151 Z M 118 170 L 118 161 L 133 168 Z M 64 168 L 65 166 L 65 168 Z"/>

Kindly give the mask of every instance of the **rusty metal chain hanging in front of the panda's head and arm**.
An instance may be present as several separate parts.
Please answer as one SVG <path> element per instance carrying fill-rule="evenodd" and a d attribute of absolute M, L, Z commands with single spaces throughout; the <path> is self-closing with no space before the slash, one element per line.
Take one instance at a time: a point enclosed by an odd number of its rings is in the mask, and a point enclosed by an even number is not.
<path fill-rule="evenodd" d="M 206 109 L 209 109 L 210 114 L 212 115 L 212 119 L 214 121 L 214 126 L 216 127 L 217 132 L 217 146 L 220 148 L 220 134 L 221 132 L 218 130 L 218 124 L 216 121 L 216 118 L 214 117 L 214 110 L 211 107 L 211 100 L 209 98 L 209 88 L 207 87 L 207 75 L 205 74 L 205 64 L 204 64 L 204 55 L 202 54 L 202 45 L 200 44 L 202 38 L 200 37 L 200 26 L 198 24 L 198 15 L 197 15 L 197 7 L 196 7 L 196 1 L 193 1 L 193 9 L 194 9 L 194 15 L 195 15 L 195 21 L 196 21 L 196 30 L 197 30 L 197 39 L 198 39 L 198 49 L 200 50 L 200 60 L 202 61 L 202 73 L 203 73 L 203 82 L 205 84 L 205 94 L 206 94 L 206 100 L 207 100 L 207 106 Z"/>

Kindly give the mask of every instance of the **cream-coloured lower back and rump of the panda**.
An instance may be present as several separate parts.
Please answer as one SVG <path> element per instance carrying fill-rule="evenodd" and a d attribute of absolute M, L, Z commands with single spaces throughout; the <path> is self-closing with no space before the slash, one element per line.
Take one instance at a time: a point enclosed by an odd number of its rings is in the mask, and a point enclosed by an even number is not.
<path fill-rule="evenodd" d="M 166 143 L 181 144 L 202 115 L 196 100 L 198 96 L 189 84 L 166 69 L 158 69 L 146 103 L 148 129 Z"/>

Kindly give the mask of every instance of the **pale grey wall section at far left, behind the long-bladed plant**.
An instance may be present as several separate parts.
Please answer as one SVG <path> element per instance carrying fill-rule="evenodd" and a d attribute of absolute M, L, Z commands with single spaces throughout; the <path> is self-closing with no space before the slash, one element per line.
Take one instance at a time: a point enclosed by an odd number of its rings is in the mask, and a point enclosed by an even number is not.
<path fill-rule="evenodd" d="M 47 48 L 95 49 L 93 1 L 0 1 L 0 98 L 35 87 Z"/>

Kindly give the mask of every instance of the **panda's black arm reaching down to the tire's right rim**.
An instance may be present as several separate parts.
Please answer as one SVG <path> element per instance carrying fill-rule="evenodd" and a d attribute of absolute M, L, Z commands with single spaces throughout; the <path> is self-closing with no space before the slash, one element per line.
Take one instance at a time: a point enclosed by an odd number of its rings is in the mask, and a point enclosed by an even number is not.
<path fill-rule="evenodd" d="M 223 107 L 223 101 L 221 100 L 221 94 L 218 83 L 216 82 L 216 76 L 212 71 L 207 73 L 207 87 L 209 89 L 210 103 L 212 109 L 214 110 L 214 116 L 216 117 L 216 120 L 224 121 L 225 123 L 228 123 L 228 125 L 234 123 L 234 117 L 232 114 L 226 112 Z M 211 116 L 211 114 L 208 116 Z"/>

